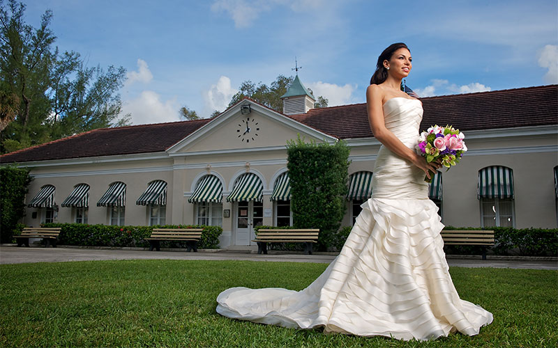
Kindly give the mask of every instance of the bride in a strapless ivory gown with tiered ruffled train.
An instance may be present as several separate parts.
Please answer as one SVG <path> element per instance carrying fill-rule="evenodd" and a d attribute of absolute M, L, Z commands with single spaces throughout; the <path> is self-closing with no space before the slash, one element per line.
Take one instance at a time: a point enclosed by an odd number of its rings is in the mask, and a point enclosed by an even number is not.
<path fill-rule="evenodd" d="M 382 142 L 372 198 L 340 254 L 306 289 L 233 287 L 217 312 L 262 324 L 402 340 L 478 334 L 492 313 L 459 298 L 448 272 L 437 207 L 424 175 L 439 164 L 416 155 L 422 103 L 400 90 L 412 68 L 407 46 L 379 56 L 366 90 L 370 127 Z"/>

